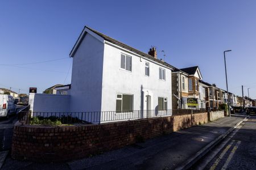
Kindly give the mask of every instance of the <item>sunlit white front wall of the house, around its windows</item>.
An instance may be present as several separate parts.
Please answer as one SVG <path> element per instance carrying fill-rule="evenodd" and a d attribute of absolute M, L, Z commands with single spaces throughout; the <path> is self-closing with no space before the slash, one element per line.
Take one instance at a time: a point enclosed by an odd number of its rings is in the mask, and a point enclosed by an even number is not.
<path fill-rule="evenodd" d="M 115 111 L 117 94 L 133 95 L 134 110 L 146 110 L 146 95 L 151 96 L 151 109 L 157 108 L 158 97 L 167 97 L 167 108 L 172 108 L 170 68 L 110 43 L 104 50 L 101 111 Z M 132 57 L 131 72 L 121 69 L 121 53 Z M 144 75 L 146 61 L 150 63 L 150 76 Z M 165 81 L 159 80 L 159 67 L 166 69 Z"/>

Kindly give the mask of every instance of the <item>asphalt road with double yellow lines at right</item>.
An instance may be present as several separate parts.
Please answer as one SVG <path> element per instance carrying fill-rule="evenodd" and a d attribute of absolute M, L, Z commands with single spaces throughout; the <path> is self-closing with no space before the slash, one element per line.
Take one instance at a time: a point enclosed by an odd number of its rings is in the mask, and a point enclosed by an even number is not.
<path fill-rule="evenodd" d="M 204 169 L 256 169 L 256 116 L 243 123 Z"/>

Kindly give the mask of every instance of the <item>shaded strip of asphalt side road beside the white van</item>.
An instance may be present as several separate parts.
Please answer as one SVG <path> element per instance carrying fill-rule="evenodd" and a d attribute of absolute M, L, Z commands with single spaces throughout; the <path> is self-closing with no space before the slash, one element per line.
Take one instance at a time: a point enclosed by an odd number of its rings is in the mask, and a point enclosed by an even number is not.
<path fill-rule="evenodd" d="M 23 106 L 17 106 L 18 111 Z M 10 116 L 8 119 L 0 118 L 0 151 L 10 150 L 11 140 L 13 138 L 13 126 L 18 120 L 17 114 Z"/>

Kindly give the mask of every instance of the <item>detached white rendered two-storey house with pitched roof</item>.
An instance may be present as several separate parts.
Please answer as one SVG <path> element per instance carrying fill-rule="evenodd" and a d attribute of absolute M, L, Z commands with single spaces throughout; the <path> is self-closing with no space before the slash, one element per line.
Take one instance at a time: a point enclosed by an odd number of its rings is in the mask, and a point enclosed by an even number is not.
<path fill-rule="evenodd" d="M 173 67 L 149 53 L 85 27 L 70 53 L 71 112 L 171 109 Z"/>

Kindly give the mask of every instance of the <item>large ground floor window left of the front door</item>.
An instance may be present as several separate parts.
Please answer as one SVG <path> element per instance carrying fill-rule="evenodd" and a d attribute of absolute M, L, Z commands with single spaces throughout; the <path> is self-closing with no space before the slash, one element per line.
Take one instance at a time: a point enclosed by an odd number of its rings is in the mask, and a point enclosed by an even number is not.
<path fill-rule="evenodd" d="M 133 95 L 117 94 L 115 111 L 133 111 Z"/>

